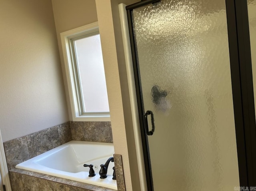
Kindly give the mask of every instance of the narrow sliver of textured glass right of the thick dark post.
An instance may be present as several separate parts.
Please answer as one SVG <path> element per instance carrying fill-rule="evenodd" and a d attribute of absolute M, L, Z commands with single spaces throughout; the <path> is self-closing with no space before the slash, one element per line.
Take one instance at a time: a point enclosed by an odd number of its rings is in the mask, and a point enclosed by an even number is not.
<path fill-rule="evenodd" d="M 250 44 L 252 56 L 252 77 L 254 89 L 254 104 L 256 104 L 256 0 L 248 0 L 248 19 L 250 28 Z M 256 105 L 255 105 L 256 108 Z"/>

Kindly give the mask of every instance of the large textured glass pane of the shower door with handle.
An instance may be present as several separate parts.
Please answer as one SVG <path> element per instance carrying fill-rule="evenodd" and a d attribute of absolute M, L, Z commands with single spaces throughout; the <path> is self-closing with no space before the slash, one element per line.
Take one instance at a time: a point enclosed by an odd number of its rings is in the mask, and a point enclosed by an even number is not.
<path fill-rule="evenodd" d="M 134 9 L 133 28 L 144 109 L 156 126 L 148 136 L 154 190 L 234 190 L 225 0 L 162 0 Z"/>

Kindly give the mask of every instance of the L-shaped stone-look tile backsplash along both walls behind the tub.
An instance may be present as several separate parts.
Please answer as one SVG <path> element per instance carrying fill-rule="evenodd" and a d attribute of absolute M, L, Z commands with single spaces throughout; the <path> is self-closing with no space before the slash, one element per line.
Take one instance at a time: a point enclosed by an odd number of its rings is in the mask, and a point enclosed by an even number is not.
<path fill-rule="evenodd" d="M 71 140 L 113 143 L 111 123 L 68 121 L 6 141 L 4 150 L 8 169 Z"/>

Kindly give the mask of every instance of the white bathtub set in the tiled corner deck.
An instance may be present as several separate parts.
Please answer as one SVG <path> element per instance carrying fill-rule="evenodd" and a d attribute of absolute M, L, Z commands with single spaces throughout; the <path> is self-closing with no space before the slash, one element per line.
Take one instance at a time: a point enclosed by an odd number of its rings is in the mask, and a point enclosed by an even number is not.
<path fill-rule="evenodd" d="M 80 181 L 116 189 L 116 180 L 112 180 L 114 163 L 108 166 L 108 177 L 100 179 L 100 165 L 114 154 L 112 143 L 96 143 L 88 141 L 70 141 L 32 159 L 16 165 L 16 168 Z M 89 167 L 93 164 L 96 176 L 88 177 Z"/>

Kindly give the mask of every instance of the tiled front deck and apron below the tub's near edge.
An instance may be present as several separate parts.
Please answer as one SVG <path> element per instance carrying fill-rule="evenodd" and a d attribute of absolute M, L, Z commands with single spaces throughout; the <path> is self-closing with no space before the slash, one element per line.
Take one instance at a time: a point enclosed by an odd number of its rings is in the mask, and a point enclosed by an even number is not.
<path fill-rule="evenodd" d="M 22 169 L 10 170 L 12 191 L 116 191 Z"/>

